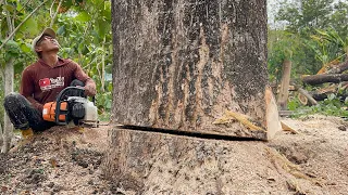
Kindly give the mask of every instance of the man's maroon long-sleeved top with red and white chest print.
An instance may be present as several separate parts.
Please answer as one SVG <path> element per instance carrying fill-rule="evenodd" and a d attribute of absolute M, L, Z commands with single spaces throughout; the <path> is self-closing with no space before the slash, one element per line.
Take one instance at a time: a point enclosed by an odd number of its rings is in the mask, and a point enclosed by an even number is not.
<path fill-rule="evenodd" d="M 20 92 L 41 112 L 44 104 L 55 101 L 62 89 L 69 87 L 74 79 L 85 84 L 94 82 L 82 67 L 71 60 L 59 58 L 54 67 L 39 60 L 22 73 Z"/>

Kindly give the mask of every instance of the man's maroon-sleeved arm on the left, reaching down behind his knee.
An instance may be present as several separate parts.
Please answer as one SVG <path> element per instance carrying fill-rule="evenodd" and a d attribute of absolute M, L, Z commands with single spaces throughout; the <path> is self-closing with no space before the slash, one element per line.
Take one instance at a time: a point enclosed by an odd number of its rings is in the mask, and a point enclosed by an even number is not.
<path fill-rule="evenodd" d="M 20 93 L 26 98 L 32 105 L 42 112 L 44 105 L 40 104 L 38 101 L 36 101 L 33 98 L 34 94 L 34 80 L 29 74 L 29 72 L 27 69 L 24 69 L 24 72 L 22 73 L 22 81 L 21 81 L 21 89 L 20 89 Z"/>

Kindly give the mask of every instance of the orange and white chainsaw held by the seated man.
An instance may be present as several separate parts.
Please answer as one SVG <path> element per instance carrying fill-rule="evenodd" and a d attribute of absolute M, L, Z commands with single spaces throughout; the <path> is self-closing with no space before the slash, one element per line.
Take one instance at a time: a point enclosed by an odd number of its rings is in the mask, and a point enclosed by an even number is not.
<path fill-rule="evenodd" d="M 55 102 L 48 102 L 44 105 L 44 120 L 53 121 L 64 126 L 99 127 L 96 99 L 89 101 L 82 87 L 67 87 L 57 96 Z"/>

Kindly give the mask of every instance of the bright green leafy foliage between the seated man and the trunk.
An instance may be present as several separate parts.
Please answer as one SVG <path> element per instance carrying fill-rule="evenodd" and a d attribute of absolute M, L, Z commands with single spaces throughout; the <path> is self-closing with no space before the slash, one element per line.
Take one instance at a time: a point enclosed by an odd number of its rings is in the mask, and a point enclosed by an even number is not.
<path fill-rule="evenodd" d="M 112 66 L 112 51 L 105 50 L 112 47 L 110 6 L 103 0 L 79 1 L 78 5 L 69 8 L 69 14 L 59 15 L 55 24 L 63 46 L 60 54 L 80 64 L 97 83 L 101 119 L 109 117 L 112 101 L 112 83 L 104 80 Z"/>

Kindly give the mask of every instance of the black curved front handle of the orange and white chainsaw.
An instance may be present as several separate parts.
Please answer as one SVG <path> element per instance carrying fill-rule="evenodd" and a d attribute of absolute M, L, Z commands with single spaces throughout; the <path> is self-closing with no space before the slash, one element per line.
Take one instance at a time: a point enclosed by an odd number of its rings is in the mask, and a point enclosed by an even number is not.
<path fill-rule="evenodd" d="M 61 110 L 61 104 L 66 102 L 67 98 L 66 93 L 70 91 L 79 91 L 79 95 L 84 94 L 85 89 L 80 87 L 67 87 L 64 88 L 57 96 L 57 104 L 55 104 L 55 123 L 57 125 L 66 125 L 67 123 L 67 113 L 69 110 Z M 65 115 L 65 121 L 60 121 L 59 116 Z"/>

